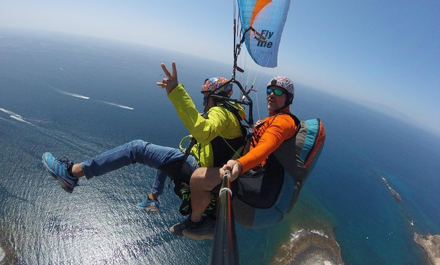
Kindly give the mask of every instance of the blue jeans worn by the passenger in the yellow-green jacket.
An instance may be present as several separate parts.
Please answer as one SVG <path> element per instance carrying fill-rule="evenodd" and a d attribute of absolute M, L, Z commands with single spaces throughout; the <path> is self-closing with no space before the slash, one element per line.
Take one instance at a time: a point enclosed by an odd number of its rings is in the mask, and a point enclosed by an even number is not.
<path fill-rule="evenodd" d="M 126 165 L 142 163 L 150 167 L 159 168 L 162 165 L 181 160 L 184 157 L 182 150 L 172 147 L 154 145 L 142 140 L 135 140 L 110 149 L 81 163 L 85 178 L 103 175 Z M 189 155 L 187 164 L 191 173 L 199 167 L 196 158 Z M 161 195 L 165 187 L 167 175 L 156 170 L 152 193 Z"/>

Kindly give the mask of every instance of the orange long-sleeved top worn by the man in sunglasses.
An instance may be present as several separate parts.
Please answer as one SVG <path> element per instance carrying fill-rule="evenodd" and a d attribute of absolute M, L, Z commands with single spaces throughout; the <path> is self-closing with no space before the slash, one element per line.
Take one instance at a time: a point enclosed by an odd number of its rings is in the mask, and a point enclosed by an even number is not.
<path fill-rule="evenodd" d="M 290 113 L 290 109 L 287 106 L 279 112 Z M 249 152 L 237 159 L 242 165 L 241 173 L 264 165 L 270 154 L 295 135 L 297 124 L 293 119 L 289 115 L 275 115 L 277 113 L 270 113 L 260 125 L 255 126 Z"/>

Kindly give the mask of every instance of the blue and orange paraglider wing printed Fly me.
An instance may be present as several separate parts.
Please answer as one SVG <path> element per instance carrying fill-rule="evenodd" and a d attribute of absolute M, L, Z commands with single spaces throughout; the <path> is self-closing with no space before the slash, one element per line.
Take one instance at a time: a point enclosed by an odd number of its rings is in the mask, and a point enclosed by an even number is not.
<path fill-rule="evenodd" d="M 277 66 L 281 33 L 290 0 L 237 0 L 246 49 L 260 66 Z M 248 30 L 249 27 L 255 31 Z"/>

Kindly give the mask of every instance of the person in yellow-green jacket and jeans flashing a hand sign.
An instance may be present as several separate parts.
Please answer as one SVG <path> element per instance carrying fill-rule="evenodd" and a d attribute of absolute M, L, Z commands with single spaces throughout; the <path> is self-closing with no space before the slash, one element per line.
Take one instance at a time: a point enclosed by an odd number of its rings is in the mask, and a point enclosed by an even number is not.
<path fill-rule="evenodd" d="M 101 153 L 81 163 L 73 163 L 65 157 L 55 159 L 46 152 L 42 155 L 42 163 L 60 186 L 72 193 L 78 179 L 85 176 L 103 175 L 107 172 L 135 163 L 143 163 L 156 168 L 156 180 L 149 195 L 138 207 L 147 211 L 158 211 L 158 197 L 163 192 L 167 175 L 186 175 L 187 180 L 192 172 L 200 167 L 221 166 L 244 145 L 244 137 L 239 116 L 244 118 L 244 110 L 238 104 L 232 108 L 221 99 L 210 97 L 230 97 L 232 84 L 226 84 L 222 77 L 206 79 L 202 85 L 205 113 L 199 114 L 190 96 L 179 84 L 177 69 L 172 62 L 170 73 L 164 64 L 161 65 L 166 78 L 156 84 L 165 89 L 167 96 L 174 105 L 179 117 L 190 132 L 193 145 L 188 152 L 182 148 L 154 145 L 142 140 L 135 140 Z M 225 85 L 226 84 L 226 85 Z M 229 107 L 228 107 L 229 106 Z M 235 114 L 233 113 L 235 112 Z"/>

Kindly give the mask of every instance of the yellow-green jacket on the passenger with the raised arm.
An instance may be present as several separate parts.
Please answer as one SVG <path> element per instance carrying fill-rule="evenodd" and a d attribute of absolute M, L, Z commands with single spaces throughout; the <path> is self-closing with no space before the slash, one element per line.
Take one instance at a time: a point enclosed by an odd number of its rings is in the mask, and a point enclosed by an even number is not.
<path fill-rule="evenodd" d="M 175 87 L 168 94 L 168 98 L 185 127 L 197 140 L 191 154 L 196 157 L 200 166 L 221 166 L 231 158 L 238 158 L 245 136 L 238 118 L 231 111 L 215 106 L 207 111 L 204 118 L 197 111 L 183 84 Z M 234 106 L 244 118 L 243 108 L 239 104 Z"/>

